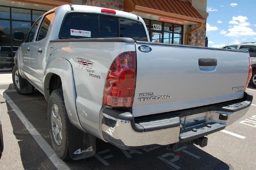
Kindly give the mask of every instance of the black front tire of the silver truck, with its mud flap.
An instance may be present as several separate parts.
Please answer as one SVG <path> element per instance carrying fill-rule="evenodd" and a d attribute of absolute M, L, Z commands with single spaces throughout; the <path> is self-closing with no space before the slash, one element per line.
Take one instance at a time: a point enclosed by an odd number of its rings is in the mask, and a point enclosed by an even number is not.
<path fill-rule="evenodd" d="M 16 74 L 18 74 L 18 75 L 16 75 Z M 18 82 L 16 82 L 16 80 L 15 80 L 16 76 L 18 76 L 18 80 L 19 80 Z M 17 65 L 14 65 L 13 70 L 12 70 L 12 82 L 13 82 L 13 86 L 16 89 L 16 91 L 20 94 L 30 94 L 34 90 L 34 86 L 30 82 L 28 82 L 28 80 L 26 80 L 20 76 Z M 17 84 L 19 84 L 19 87 Z"/>

